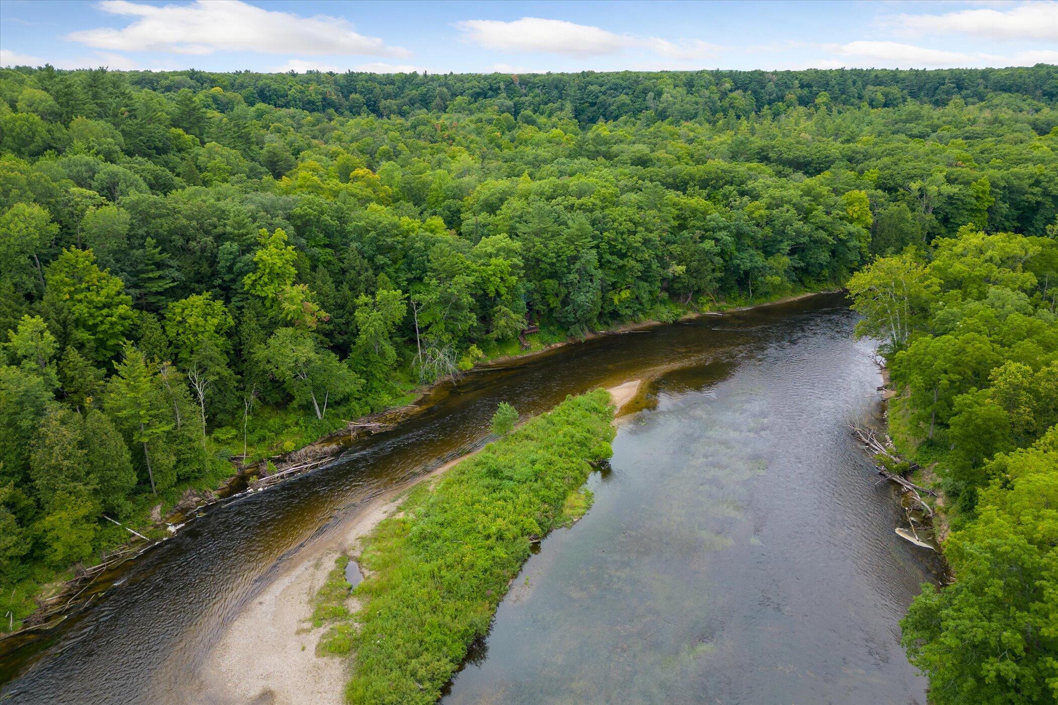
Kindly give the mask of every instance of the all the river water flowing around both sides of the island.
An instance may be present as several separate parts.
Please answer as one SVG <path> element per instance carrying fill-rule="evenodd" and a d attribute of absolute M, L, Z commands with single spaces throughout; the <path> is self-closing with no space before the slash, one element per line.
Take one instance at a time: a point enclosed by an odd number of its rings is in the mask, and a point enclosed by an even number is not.
<path fill-rule="evenodd" d="M 42 637 L 0 644 L 25 703 L 180 703 L 241 607 L 380 493 L 479 444 L 496 404 L 647 379 L 596 502 L 549 537 L 448 700 L 917 703 L 898 620 L 931 554 L 846 424 L 878 412 L 840 296 L 606 336 L 467 375 L 340 462 L 209 507 Z M 14 648 L 13 648 L 14 647 Z"/>

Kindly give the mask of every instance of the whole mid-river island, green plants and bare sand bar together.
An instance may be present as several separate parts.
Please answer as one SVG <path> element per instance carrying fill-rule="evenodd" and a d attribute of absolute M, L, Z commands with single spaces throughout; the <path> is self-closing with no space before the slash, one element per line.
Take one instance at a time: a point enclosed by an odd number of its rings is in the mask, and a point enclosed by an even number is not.
<path fill-rule="evenodd" d="M 347 525 L 333 532 L 331 538 L 298 556 L 238 615 L 207 657 L 198 694 L 247 701 L 273 698 L 276 702 L 313 704 L 346 702 L 344 691 L 353 702 L 436 700 L 440 687 L 461 664 L 466 647 L 487 630 L 509 581 L 521 570 L 529 545 L 542 539 L 548 527 L 566 525 L 587 508 L 590 497 L 585 497 L 581 486 L 587 477 L 588 465 L 608 458 L 608 440 L 613 431 L 607 426 L 616 424 L 614 416 L 628 408 L 641 391 L 641 383 L 633 381 L 605 391 L 568 397 L 551 412 L 526 421 L 492 444 L 441 465 L 411 485 L 372 499 L 349 518 Z M 567 440 L 571 435 L 580 439 L 570 445 Z M 518 469 L 525 465 L 523 457 L 534 458 L 543 469 L 526 475 L 525 468 Z M 490 469 L 486 471 L 485 468 Z M 510 472 L 518 475 L 518 479 L 506 477 Z M 519 503 L 511 494 L 511 483 L 514 486 L 547 485 L 546 500 L 534 495 L 534 500 Z M 472 497 L 470 502 L 468 497 Z M 440 531 L 436 523 L 439 520 L 437 508 L 433 505 L 450 501 L 455 502 L 453 508 L 442 515 L 453 521 L 445 525 L 458 528 Z M 535 509 L 533 502 L 536 502 Z M 415 620 L 415 627 L 402 626 L 404 623 L 400 619 L 403 617 L 394 615 L 411 609 L 408 602 L 417 604 L 421 594 L 409 593 L 411 588 L 405 585 L 418 585 L 422 579 L 422 574 L 408 564 L 425 560 L 418 553 L 421 551 L 436 559 L 437 554 L 432 551 L 443 553 L 450 542 L 466 546 L 468 537 L 463 532 L 478 531 L 470 524 L 476 524 L 482 516 L 492 516 L 481 514 L 482 503 L 501 505 L 501 513 L 508 517 L 503 522 L 503 531 L 485 532 L 488 537 L 478 539 L 506 549 L 497 559 L 501 568 L 494 567 L 488 558 L 492 553 L 478 556 L 469 548 L 464 553 L 474 554 L 473 560 L 468 555 L 460 555 L 458 560 L 452 559 L 458 563 L 456 565 L 443 559 L 448 568 L 438 570 L 430 578 L 435 588 L 444 585 L 444 590 L 451 591 L 453 578 L 444 575 L 451 576 L 453 570 L 459 582 L 466 582 L 466 576 L 476 576 L 479 582 L 467 588 L 470 595 L 460 593 L 456 597 L 442 591 L 437 593 L 438 597 L 430 598 L 443 602 L 443 596 L 450 595 L 458 599 L 459 609 L 449 610 L 442 605 L 432 607 L 438 615 L 446 615 L 443 628 L 424 627 L 419 624 L 421 619 Z M 515 507 L 519 508 L 515 511 Z M 524 531 L 516 531 L 514 526 L 522 526 Z M 417 537 L 415 545 L 408 543 L 413 533 Z M 423 533 L 432 538 L 422 538 Z M 409 560 L 413 551 L 417 552 L 414 561 Z M 345 568 L 350 558 L 358 558 L 359 570 L 365 574 L 355 589 L 345 580 Z M 372 599 L 379 600 L 373 608 Z M 370 608 L 366 613 L 365 607 Z M 383 612 L 387 616 L 381 616 Z M 399 639 L 411 650 L 387 645 L 379 646 L 379 653 L 373 653 L 363 646 L 355 648 L 370 641 L 363 632 L 365 624 L 368 635 L 373 633 L 370 630 L 382 630 L 384 641 Z M 432 633 L 431 629 L 445 632 L 435 634 L 445 644 L 443 653 L 432 653 L 432 668 L 414 675 L 415 669 L 403 670 L 407 666 L 403 662 L 385 668 L 386 679 L 404 675 L 397 690 L 388 690 L 393 681 L 387 680 L 383 694 L 377 698 L 379 691 L 375 681 L 383 676 L 368 672 L 365 678 L 364 672 L 378 670 L 379 658 L 383 662 L 418 658 L 417 663 L 421 664 L 423 649 L 428 649 L 416 634 Z M 343 655 L 350 651 L 364 654 L 360 670 L 357 670 L 355 655 Z M 413 653 L 417 656 L 409 655 Z M 346 681 L 350 678 L 352 681 L 346 690 Z M 413 683 L 408 678 L 419 680 Z M 401 690 L 402 687 L 407 689 Z"/>

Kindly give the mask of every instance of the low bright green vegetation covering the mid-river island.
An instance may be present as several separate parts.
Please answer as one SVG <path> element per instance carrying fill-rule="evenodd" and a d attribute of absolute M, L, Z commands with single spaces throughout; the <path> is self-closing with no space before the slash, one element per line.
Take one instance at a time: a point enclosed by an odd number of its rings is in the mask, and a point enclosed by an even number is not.
<path fill-rule="evenodd" d="M 367 539 L 359 631 L 325 637 L 355 651 L 353 703 L 433 703 L 467 648 L 486 633 L 531 538 L 567 519 L 570 493 L 610 456 L 605 391 L 571 396 L 419 488 Z M 574 502 L 576 503 L 576 502 Z M 582 498 L 581 504 L 585 503 Z"/>

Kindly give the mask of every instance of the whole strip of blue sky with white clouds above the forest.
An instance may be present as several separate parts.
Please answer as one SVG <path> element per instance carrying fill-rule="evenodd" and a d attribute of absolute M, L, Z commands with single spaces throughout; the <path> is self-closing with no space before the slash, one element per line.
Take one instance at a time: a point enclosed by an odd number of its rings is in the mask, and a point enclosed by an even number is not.
<path fill-rule="evenodd" d="M 543 73 L 1058 63 L 1045 2 L 0 0 L 0 66 Z"/>

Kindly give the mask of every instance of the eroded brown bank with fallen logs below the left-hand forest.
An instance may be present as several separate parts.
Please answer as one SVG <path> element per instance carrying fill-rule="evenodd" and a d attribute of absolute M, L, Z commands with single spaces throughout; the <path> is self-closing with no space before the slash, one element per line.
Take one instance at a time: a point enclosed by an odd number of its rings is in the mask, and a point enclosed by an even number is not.
<path fill-rule="evenodd" d="M 527 336 L 530 344 L 528 349 L 523 349 L 515 353 L 487 357 L 475 364 L 467 373 L 473 373 L 475 370 L 516 366 L 540 355 L 609 335 L 622 335 L 630 332 L 667 326 L 677 320 L 693 320 L 704 316 L 740 313 L 760 308 L 792 303 L 811 296 L 836 294 L 841 291 L 840 289 L 806 291 L 772 299 L 765 298 L 751 303 L 740 300 L 733 303 L 722 301 L 711 307 L 706 307 L 704 311 L 691 310 L 690 307 L 685 307 L 683 313 L 675 316 L 673 320 L 649 319 L 624 323 L 608 330 L 588 332 L 582 336 L 569 336 L 560 341 L 540 342 L 533 335 L 530 335 Z M 212 504 L 224 499 L 231 499 L 242 491 L 260 491 L 286 480 L 293 479 L 304 472 L 322 467 L 340 454 L 347 447 L 348 443 L 352 443 L 364 435 L 390 430 L 402 421 L 424 411 L 428 406 L 420 406 L 419 402 L 427 400 L 446 384 L 450 384 L 449 377 L 412 390 L 401 400 L 401 402 L 404 402 L 403 404 L 395 404 L 390 408 L 377 413 L 351 421 L 344 421 L 338 429 L 315 440 L 308 440 L 304 445 L 281 454 L 269 456 L 266 451 L 252 462 L 244 462 L 245 459 L 242 462 L 233 459 L 231 461 L 231 471 L 227 475 L 218 475 L 218 479 L 213 486 L 205 485 L 201 479 L 186 486 L 178 486 L 179 500 L 171 500 L 168 502 L 168 506 L 165 503 L 160 503 L 150 512 L 146 521 L 123 522 L 122 527 L 130 534 L 128 540 L 116 545 L 107 554 L 99 556 L 98 562 L 84 561 L 75 569 L 72 569 L 71 577 L 62 579 L 59 582 L 41 586 L 40 592 L 34 597 L 38 605 L 37 609 L 23 614 L 20 618 L 21 621 L 26 624 L 26 627 L 15 631 L 0 631 L 0 642 L 10 636 L 16 636 L 28 631 L 54 625 L 57 618 L 62 618 L 71 609 L 74 609 L 80 601 L 91 596 L 91 588 L 98 578 L 110 575 L 111 571 L 121 570 L 124 564 L 139 558 L 158 543 L 170 538 L 187 522 L 194 521 L 198 513 L 206 509 Z M 621 405 L 618 404 L 618 406 L 620 407 Z"/>

